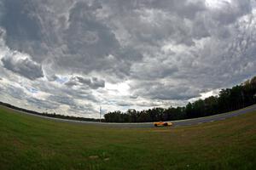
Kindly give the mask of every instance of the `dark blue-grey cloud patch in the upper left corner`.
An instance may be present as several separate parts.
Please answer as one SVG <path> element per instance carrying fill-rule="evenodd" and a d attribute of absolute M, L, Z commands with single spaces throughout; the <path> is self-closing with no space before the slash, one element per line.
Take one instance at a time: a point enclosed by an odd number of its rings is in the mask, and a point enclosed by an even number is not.
<path fill-rule="evenodd" d="M 42 46 L 43 32 L 32 3 L 27 0 L 3 0 L 1 26 L 6 30 L 6 44 L 11 49 L 19 50 L 34 56 L 47 52 Z M 35 55 L 37 54 L 37 55 Z"/>

